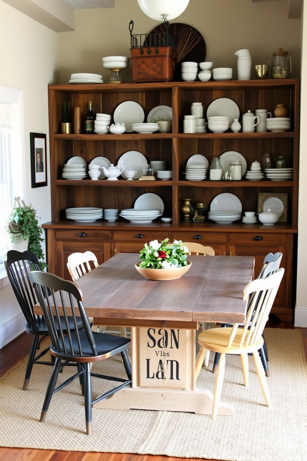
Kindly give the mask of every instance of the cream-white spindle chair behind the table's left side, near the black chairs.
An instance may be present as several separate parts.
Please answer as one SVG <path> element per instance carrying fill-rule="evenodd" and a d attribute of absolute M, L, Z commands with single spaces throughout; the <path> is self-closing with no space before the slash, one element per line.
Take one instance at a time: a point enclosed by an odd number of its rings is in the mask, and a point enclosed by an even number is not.
<path fill-rule="evenodd" d="M 93 269 L 98 267 L 98 261 L 95 254 L 92 251 L 86 251 L 84 253 L 72 253 L 67 258 L 67 268 L 71 275 L 73 282 L 78 280 L 87 272 L 91 272 Z M 93 320 L 93 319 L 91 319 Z M 98 331 L 99 326 L 93 325 L 93 331 Z M 100 326 L 101 331 L 104 333 L 107 331 L 106 326 Z M 124 326 L 120 327 L 121 336 L 127 338 L 127 331 Z M 110 332 L 110 331 L 109 331 Z M 117 333 L 118 331 L 112 331 L 112 333 Z"/>

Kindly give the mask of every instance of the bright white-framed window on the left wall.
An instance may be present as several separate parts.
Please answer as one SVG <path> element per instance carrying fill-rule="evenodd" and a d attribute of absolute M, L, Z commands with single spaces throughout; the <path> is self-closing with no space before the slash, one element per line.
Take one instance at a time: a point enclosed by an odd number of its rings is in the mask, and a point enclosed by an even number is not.
<path fill-rule="evenodd" d="M 14 197 L 23 198 L 23 92 L 0 85 L 0 265 L 9 248 L 5 230 Z"/>

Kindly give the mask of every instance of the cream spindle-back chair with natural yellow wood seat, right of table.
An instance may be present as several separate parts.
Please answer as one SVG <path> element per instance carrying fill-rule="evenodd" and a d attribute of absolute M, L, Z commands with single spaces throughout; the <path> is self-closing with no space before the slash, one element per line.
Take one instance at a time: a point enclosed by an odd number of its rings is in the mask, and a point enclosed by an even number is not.
<path fill-rule="evenodd" d="M 284 268 L 281 268 L 267 278 L 255 279 L 246 285 L 243 291 L 243 299 L 252 297 L 252 302 L 243 328 L 239 328 L 240 325 L 235 323 L 232 327 L 213 328 L 203 331 L 198 335 L 198 344 L 201 348 L 195 365 L 196 378 L 202 367 L 205 351 L 209 349 L 220 353 L 220 361 L 214 385 L 212 418 L 216 418 L 219 409 L 226 354 L 240 354 L 245 386 L 249 385 L 248 353 L 253 354 L 257 376 L 266 400 L 266 405 L 268 407 L 272 405 L 258 350 L 263 346 L 262 332 L 283 275 Z"/>

